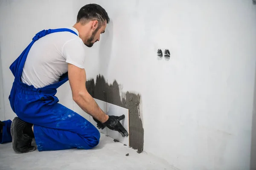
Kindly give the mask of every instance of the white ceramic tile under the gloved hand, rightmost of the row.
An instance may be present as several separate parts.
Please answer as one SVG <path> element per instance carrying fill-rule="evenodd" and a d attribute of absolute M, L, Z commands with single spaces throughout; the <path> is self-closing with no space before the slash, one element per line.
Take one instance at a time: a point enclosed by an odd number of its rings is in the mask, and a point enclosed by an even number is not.
<path fill-rule="evenodd" d="M 123 125 L 123 127 L 125 127 L 125 129 L 129 133 L 129 110 L 128 109 L 107 103 L 107 114 L 114 115 L 114 116 L 121 116 L 124 114 L 125 119 L 122 119 L 120 123 Z M 110 136 L 113 139 L 117 139 L 119 140 L 119 142 L 129 146 L 129 136 L 122 137 L 122 135 L 119 132 L 110 130 L 110 129 L 108 129 L 108 136 Z"/>

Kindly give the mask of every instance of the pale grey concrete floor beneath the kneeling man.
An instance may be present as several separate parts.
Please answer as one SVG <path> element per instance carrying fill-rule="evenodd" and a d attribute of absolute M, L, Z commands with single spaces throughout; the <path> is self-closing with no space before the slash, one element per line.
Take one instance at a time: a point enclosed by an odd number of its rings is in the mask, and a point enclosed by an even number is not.
<path fill-rule="evenodd" d="M 129 156 L 125 156 L 129 153 Z M 91 150 L 35 150 L 16 154 L 12 144 L 0 144 L 0 170 L 175 170 L 166 161 L 124 146 L 101 133 Z"/>

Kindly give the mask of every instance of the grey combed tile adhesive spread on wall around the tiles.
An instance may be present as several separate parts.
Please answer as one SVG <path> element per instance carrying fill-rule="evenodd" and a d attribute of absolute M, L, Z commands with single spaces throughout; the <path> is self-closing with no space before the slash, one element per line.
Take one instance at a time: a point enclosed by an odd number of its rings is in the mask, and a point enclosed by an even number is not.
<path fill-rule="evenodd" d="M 130 147 L 138 150 L 138 153 L 142 153 L 144 129 L 140 117 L 140 94 L 128 91 L 120 93 L 119 86 L 116 80 L 113 84 L 108 84 L 101 75 L 97 76 L 96 83 L 94 83 L 94 79 L 86 82 L 87 91 L 93 98 L 129 109 L 129 144 Z M 124 97 L 121 97 L 120 94 Z"/>

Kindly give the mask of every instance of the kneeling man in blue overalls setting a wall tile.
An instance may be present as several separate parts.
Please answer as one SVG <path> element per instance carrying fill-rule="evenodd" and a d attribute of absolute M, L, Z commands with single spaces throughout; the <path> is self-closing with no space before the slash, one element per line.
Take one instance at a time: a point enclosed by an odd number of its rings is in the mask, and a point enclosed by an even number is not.
<path fill-rule="evenodd" d="M 12 122 L 12 148 L 16 153 L 35 150 L 90 149 L 99 143 L 99 131 L 78 113 L 58 103 L 57 88 L 69 79 L 73 100 L 93 116 L 99 128 L 122 136 L 124 116 L 108 116 L 85 87 L 85 46 L 92 47 L 105 32 L 109 17 L 97 4 L 83 6 L 72 28 L 49 29 L 35 35 L 12 63 L 15 76 L 9 101 L 18 117 Z"/>

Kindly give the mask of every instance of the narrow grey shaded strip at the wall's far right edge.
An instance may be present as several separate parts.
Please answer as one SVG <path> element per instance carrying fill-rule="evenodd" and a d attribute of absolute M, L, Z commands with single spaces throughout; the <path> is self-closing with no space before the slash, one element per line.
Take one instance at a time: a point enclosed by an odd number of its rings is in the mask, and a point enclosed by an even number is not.
<path fill-rule="evenodd" d="M 256 70 L 254 80 L 254 99 L 253 99 L 253 122 L 250 154 L 250 170 L 256 170 Z"/>

